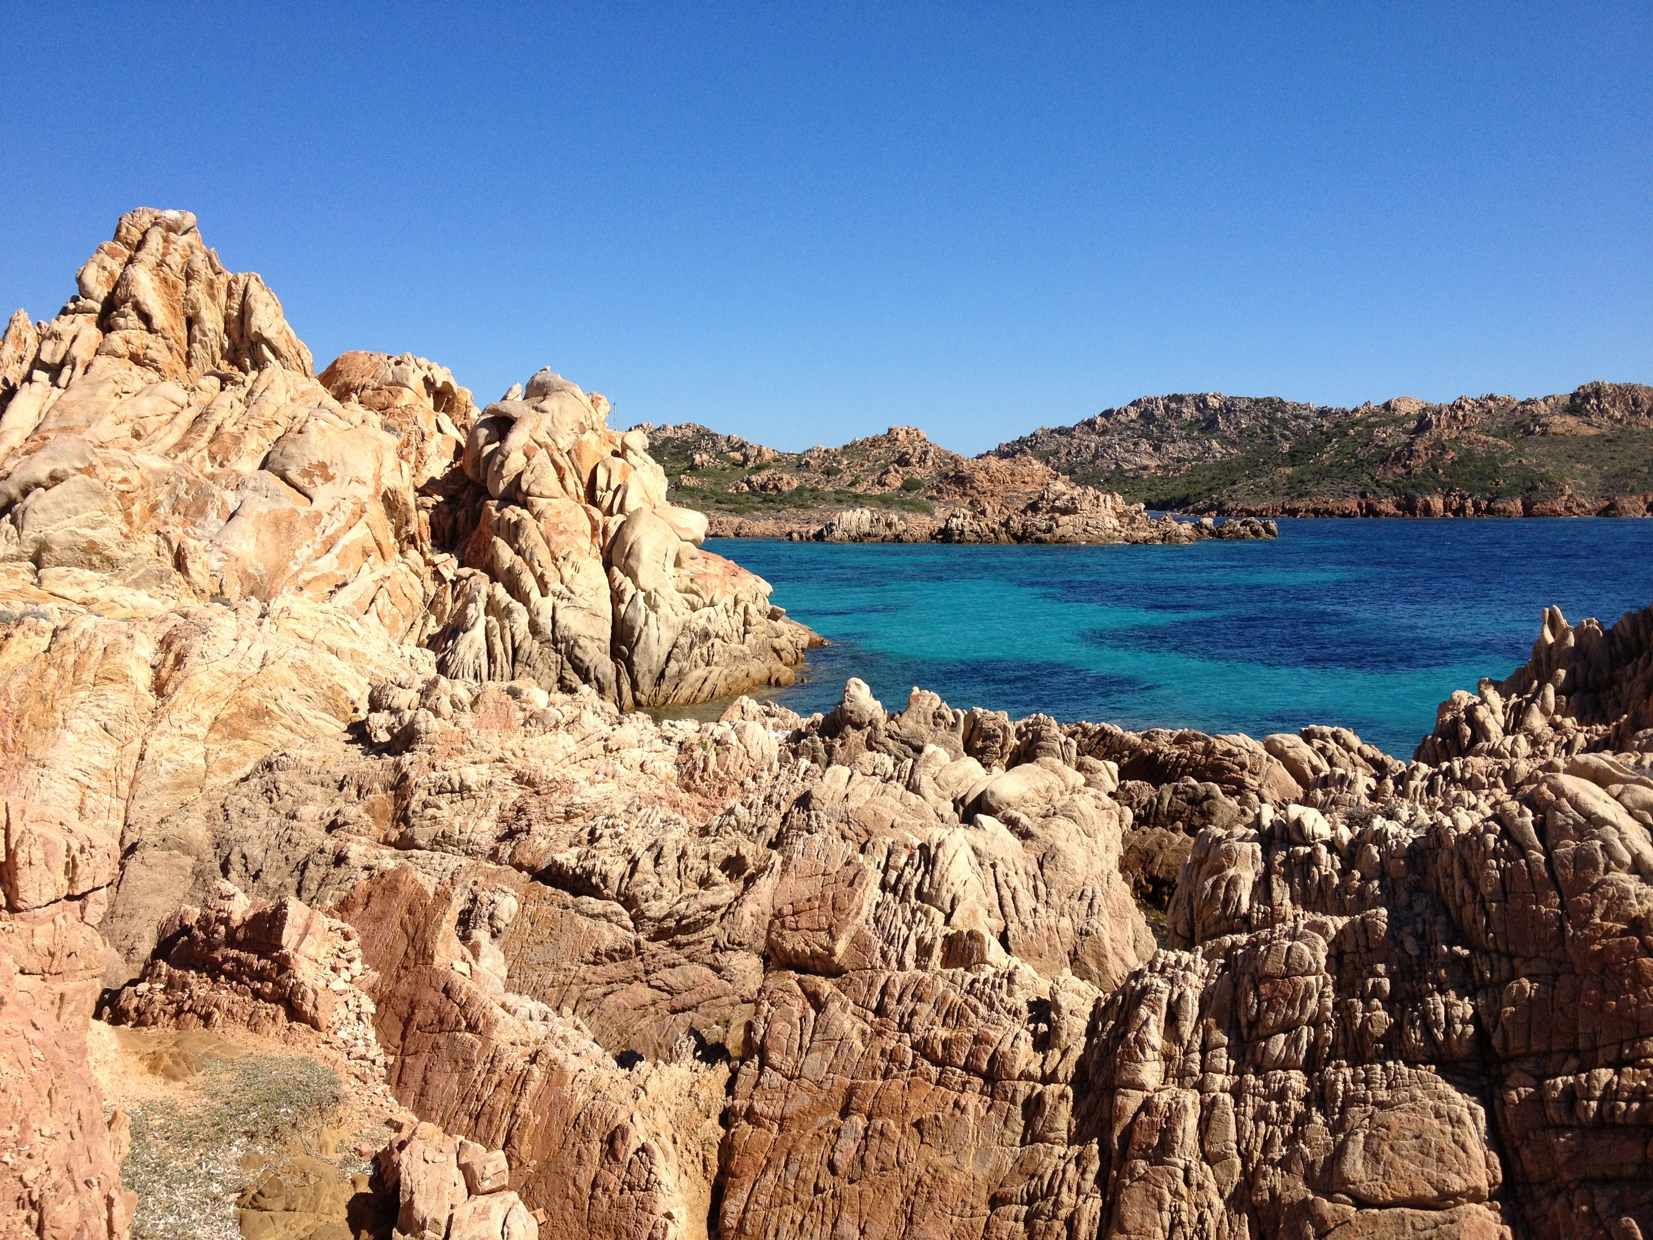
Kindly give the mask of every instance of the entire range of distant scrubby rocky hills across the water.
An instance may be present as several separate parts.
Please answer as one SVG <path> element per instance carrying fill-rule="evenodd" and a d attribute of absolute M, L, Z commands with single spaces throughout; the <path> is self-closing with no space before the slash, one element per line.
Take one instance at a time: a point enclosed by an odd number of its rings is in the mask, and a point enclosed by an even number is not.
<path fill-rule="evenodd" d="M 1126 504 L 1213 516 L 1648 516 L 1653 387 L 1532 400 L 1395 397 L 1359 408 L 1222 392 L 1142 397 L 974 460 L 914 427 L 784 453 L 698 423 L 641 425 L 671 501 L 714 532 L 886 524 L 1025 506 L 1056 479 Z M 1007 470 L 985 470 L 1002 461 Z M 907 514 L 907 516 L 896 516 Z"/>

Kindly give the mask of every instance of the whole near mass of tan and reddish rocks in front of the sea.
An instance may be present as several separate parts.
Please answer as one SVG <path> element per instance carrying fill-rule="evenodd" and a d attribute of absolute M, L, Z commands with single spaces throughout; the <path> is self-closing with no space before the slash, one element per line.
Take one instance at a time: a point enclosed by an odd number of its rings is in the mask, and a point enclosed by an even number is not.
<path fill-rule="evenodd" d="M 316 375 L 187 213 L 0 384 L 0 1233 L 1653 1235 L 1653 607 L 1410 759 L 800 718 L 602 397 Z"/>

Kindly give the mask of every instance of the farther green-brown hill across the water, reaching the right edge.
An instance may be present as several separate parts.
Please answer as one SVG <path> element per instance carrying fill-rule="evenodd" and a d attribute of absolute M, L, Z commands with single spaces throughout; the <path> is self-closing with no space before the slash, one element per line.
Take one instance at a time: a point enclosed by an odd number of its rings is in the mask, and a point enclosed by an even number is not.
<path fill-rule="evenodd" d="M 1410 397 L 1332 408 L 1220 392 L 1142 397 L 992 455 L 1033 455 L 1149 508 L 1256 516 L 1643 516 L 1653 389 Z"/>

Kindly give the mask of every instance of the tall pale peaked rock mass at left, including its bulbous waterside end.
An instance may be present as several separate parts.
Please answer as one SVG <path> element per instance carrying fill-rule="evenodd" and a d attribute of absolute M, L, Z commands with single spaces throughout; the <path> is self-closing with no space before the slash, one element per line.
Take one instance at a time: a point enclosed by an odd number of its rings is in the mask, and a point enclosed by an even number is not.
<path fill-rule="evenodd" d="M 412 355 L 317 377 L 187 212 L 122 217 L 0 355 L 0 794 L 119 842 L 127 969 L 200 858 L 160 823 L 375 683 L 683 703 L 785 683 L 818 640 L 698 549 L 600 395 L 542 370 L 478 412 Z"/>

